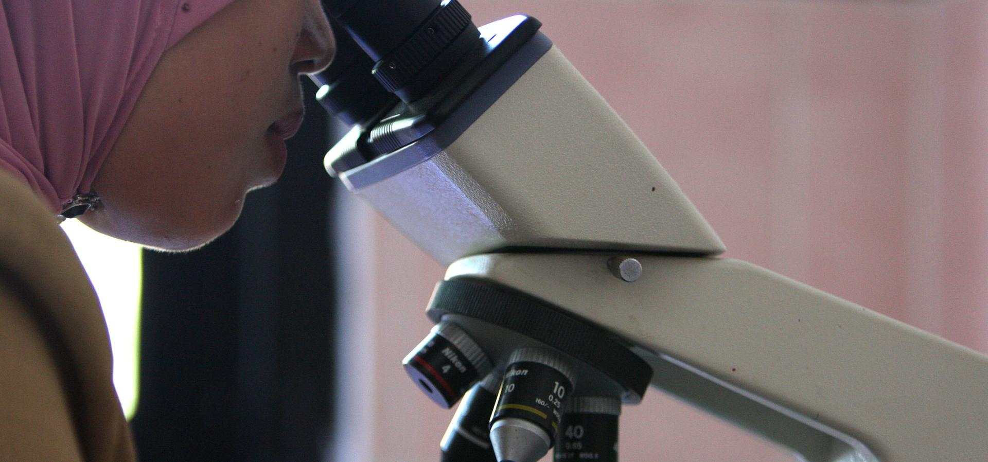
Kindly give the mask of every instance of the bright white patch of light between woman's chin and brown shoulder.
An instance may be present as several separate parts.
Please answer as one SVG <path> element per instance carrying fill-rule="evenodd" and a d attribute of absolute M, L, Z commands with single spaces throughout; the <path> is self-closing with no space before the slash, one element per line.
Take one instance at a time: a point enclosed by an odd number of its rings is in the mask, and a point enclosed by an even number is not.
<path fill-rule="evenodd" d="M 137 407 L 140 246 L 104 236 L 77 220 L 66 220 L 62 229 L 103 305 L 114 351 L 114 385 L 130 419 Z"/>

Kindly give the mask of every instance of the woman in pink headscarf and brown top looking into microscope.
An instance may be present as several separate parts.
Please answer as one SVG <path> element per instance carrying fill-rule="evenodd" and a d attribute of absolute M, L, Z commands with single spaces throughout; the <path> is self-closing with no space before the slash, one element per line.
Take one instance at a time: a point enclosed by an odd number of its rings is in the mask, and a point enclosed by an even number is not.
<path fill-rule="evenodd" d="M 333 47 L 318 0 L 2 0 L 0 460 L 133 459 L 57 221 L 174 251 L 222 234 Z"/>

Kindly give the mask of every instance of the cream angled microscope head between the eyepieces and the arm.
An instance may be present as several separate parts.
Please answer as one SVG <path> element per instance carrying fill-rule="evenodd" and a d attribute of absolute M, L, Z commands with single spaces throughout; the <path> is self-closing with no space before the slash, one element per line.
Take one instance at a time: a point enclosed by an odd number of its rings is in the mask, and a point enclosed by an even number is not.
<path fill-rule="evenodd" d="M 518 249 L 723 252 L 539 27 L 514 16 L 479 28 L 431 96 L 353 128 L 327 170 L 441 264 Z"/>

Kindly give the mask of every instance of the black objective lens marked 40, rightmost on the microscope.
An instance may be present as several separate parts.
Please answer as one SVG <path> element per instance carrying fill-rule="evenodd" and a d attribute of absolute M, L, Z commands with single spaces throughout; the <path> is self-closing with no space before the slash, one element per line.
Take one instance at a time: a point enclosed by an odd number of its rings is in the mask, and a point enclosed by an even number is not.
<path fill-rule="evenodd" d="M 556 462 L 617 462 L 617 397 L 575 397 L 566 403 L 556 436 Z"/>

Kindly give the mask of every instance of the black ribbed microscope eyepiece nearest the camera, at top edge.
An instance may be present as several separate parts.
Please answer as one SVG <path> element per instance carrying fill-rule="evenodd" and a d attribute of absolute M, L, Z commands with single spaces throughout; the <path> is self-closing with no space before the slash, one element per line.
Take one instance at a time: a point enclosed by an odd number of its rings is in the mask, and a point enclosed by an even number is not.
<path fill-rule="evenodd" d="M 457 0 L 336 0 L 326 7 L 371 56 L 374 77 L 406 103 L 434 90 L 480 38 Z"/>

